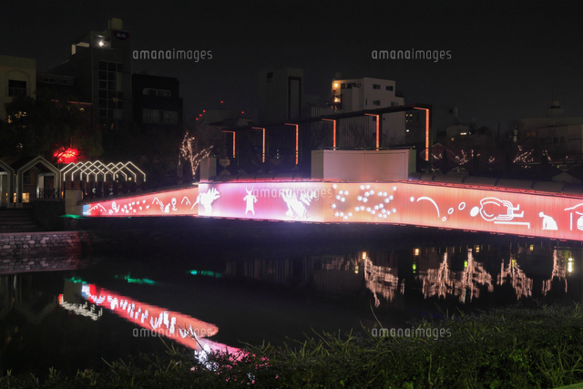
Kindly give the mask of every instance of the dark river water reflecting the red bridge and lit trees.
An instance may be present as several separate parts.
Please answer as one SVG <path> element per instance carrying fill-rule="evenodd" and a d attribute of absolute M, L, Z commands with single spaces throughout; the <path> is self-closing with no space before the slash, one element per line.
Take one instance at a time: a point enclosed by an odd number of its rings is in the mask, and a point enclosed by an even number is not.
<path fill-rule="evenodd" d="M 96 257 L 76 271 L 0 275 L 0 369 L 74 374 L 162 351 L 152 327 L 190 348 L 232 350 L 359 332 L 377 320 L 410 327 L 517 302 L 581 302 L 579 243 L 470 238 L 327 243 L 312 255 L 276 243 L 252 252 L 213 243 L 180 256 Z"/>

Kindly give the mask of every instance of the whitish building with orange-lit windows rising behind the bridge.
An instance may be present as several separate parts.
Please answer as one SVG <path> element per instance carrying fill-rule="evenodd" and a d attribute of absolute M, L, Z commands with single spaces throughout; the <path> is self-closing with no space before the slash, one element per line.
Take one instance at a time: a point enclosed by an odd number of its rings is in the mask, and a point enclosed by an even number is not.
<path fill-rule="evenodd" d="M 396 91 L 393 80 L 380 78 L 343 78 L 332 80 L 332 93 L 329 101 L 338 112 L 362 111 L 384 107 L 398 107 L 404 105 L 404 96 Z M 366 128 L 369 135 L 376 131 L 376 117 L 364 118 L 349 125 L 356 126 L 354 131 L 359 132 Z M 363 123 L 361 123 L 363 122 Z M 349 128 L 347 128 L 349 132 Z M 341 131 L 342 132 L 342 131 Z M 383 115 L 383 144 L 389 147 L 405 143 L 405 113 Z"/>

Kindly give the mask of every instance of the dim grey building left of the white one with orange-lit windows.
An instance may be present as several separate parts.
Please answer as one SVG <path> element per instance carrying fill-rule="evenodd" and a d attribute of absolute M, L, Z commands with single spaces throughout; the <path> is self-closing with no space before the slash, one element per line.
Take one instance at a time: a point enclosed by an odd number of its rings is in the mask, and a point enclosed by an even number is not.
<path fill-rule="evenodd" d="M 282 67 L 261 71 L 258 103 L 260 123 L 302 118 L 303 70 Z"/>

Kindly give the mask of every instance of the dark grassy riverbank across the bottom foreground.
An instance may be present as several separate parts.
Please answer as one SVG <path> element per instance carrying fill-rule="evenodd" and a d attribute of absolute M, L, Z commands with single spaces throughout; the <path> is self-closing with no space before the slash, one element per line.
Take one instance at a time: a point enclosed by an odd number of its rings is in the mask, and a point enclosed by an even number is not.
<path fill-rule="evenodd" d="M 3 377 L 0 387 L 557 388 L 583 382 L 580 307 L 520 307 L 362 336 L 313 334 L 241 355 L 141 354 L 75 377 Z M 423 331 L 422 331 L 423 330 Z M 39 386 L 37 386 L 39 385 Z"/>

